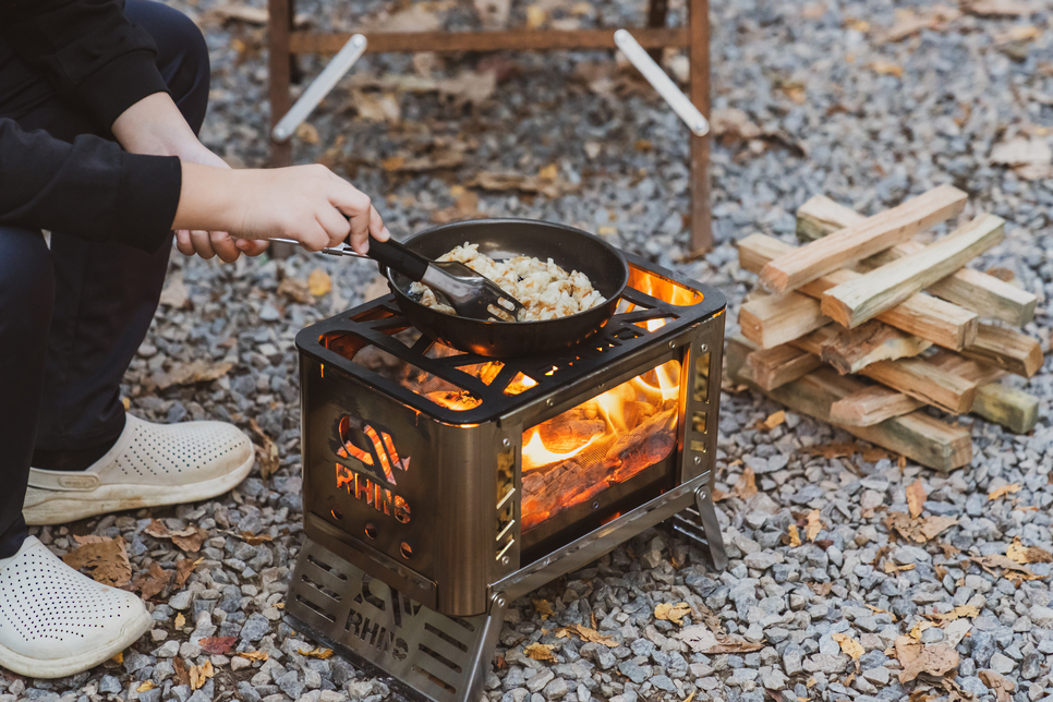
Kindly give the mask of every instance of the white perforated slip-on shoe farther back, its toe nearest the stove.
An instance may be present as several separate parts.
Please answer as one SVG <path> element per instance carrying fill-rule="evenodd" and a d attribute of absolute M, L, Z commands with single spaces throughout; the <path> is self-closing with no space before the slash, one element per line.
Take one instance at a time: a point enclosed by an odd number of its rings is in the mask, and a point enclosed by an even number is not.
<path fill-rule="evenodd" d="M 87 469 L 29 469 L 23 507 L 27 524 L 208 499 L 237 486 L 252 470 L 252 441 L 231 424 L 152 424 L 126 417 L 117 444 Z"/>

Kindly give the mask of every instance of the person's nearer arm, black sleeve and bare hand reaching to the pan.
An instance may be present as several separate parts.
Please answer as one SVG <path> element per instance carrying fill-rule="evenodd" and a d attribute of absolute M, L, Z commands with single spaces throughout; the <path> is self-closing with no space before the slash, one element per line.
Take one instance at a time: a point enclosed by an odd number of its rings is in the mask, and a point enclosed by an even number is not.
<path fill-rule="evenodd" d="M 310 251 L 351 234 L 361 253 L 371 234 L 388 238 L 370 198 L 324 166 L 235 171 L 129 154 L 89 135 L 69 144 L 2 118 L 0 223 L 145 251 L 172 229 L 295 239 Z"/>

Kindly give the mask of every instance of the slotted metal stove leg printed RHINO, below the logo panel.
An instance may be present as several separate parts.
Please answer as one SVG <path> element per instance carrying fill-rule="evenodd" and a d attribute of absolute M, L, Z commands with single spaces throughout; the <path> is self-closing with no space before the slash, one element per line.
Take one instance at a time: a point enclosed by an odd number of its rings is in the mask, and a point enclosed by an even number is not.
<path fill-rule="evenodd" d="M 507 607 L 497 593 L 483 614 L 448 617 L 306 538 L 286 620 L 416 699 L 477 702 Z"/>

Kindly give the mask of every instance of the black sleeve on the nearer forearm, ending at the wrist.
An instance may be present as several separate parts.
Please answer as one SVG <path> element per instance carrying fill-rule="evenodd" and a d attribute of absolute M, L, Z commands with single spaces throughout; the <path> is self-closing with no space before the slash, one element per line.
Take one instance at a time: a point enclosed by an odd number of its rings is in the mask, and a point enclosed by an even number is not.
<path fill-rule="evenodd" d="M 169 241 L 182 170 L 92 135 L 72 144 L 0 118 L 0 225 L 157 251 Z"/>

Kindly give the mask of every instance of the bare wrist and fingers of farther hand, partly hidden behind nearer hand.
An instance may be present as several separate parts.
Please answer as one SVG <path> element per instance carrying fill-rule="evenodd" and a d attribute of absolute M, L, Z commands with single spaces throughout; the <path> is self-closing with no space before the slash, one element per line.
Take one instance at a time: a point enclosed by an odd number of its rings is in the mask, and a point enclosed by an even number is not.
<path fill-rule="evenodd" d="M 131 154 L 178 156 L 181 161 L 215 168 L 230 168 L 223 159 L 198 141 L 190 124 L 167 93 L 149 95 L 117 118 L 110 128 L 117 141 Z M 226 231 L 178 230 L 175 247 L 183 254 L 195 253 L 202 258 L 219 256 L 232 263 L 245 253 L 257 256 L 267 242 L 252 242 L 238 246 Z"/>

